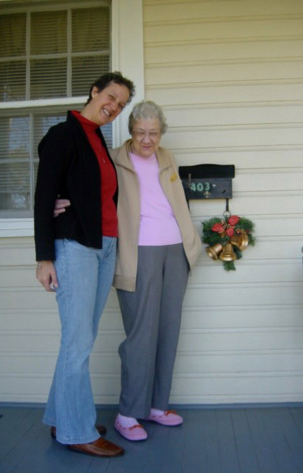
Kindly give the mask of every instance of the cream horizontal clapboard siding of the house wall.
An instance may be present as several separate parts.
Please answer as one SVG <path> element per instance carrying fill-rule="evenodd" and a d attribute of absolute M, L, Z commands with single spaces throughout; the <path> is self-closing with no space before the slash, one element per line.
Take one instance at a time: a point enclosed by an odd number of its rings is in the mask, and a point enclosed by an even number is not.
<path fill-rule="evenodd" d="M 162 144 L 177 165 L 235 165 L 230 209 L 257 236 L 235 272 L 203 252 L 190 275 L 171 402 L 302 401 L 303 2 L 142 4 L 145 97 L 167 116 Z M 200 233 L 224 209 L 190 202 Z M 0 402 L 45 402 L 52 381 L 60 323 L 34 259 L 31 237 L 0 239 Z M 123 338 L 112 290 L 90 361 L 97 403 L 118 402 Z"/>

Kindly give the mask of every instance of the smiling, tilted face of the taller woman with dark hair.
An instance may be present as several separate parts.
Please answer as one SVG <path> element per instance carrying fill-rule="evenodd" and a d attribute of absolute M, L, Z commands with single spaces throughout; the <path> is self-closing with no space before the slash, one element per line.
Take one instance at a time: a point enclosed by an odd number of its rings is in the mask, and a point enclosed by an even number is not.
<path fill-rule="evenodd" d="M 93 87 L 91 97 L 81 115 L 102 126 L 115 120 L 122 112 L 129 98 L 129 90 L 126 85 L 111 82 L 100 91 L 97 87 Z"/>

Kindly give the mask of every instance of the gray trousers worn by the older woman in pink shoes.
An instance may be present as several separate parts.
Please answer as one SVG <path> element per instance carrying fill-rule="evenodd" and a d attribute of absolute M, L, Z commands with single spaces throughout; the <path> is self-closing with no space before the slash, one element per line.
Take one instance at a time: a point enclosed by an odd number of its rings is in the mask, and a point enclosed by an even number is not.
<path fill-rule="evenodd" d="M 117 289 L 126 339 L 121 358 L 122 415 L 166 410 L 189 266 L 182 243 L 139 246 L 136 291 Z"/>

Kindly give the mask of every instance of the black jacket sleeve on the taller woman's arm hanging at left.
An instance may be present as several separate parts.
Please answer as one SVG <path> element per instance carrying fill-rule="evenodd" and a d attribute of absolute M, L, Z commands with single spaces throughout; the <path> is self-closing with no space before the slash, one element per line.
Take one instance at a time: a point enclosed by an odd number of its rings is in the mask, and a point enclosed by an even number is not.
<path fill-rule="evenodd" d="M 46 133 L 38 146 L 39 165 L 35 190 L 34 228 L 36 260 L 55 260 L 55 200 L 67 178 L 72 141 L 64 124 Z"/>

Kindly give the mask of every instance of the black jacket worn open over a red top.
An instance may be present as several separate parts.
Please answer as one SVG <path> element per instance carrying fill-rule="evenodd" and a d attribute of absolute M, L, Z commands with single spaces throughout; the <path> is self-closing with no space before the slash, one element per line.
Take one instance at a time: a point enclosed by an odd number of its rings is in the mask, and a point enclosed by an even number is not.
<path fill-rule="evenodd" d="M 109 159 L 102 133 L 97 129 Z M 56 259 L 54 240 L 69 238 L 102 248 L 100 168 L 79 121 L 69 112 L 66 122 L 50 128 L 38 146 L 39 166 L 35 191 L 36 260 Z M 57 196 L 71 206 L 54 219 Z M 117 206 L 118 189 L 114 201 Z"/>

